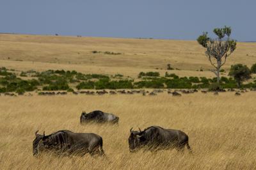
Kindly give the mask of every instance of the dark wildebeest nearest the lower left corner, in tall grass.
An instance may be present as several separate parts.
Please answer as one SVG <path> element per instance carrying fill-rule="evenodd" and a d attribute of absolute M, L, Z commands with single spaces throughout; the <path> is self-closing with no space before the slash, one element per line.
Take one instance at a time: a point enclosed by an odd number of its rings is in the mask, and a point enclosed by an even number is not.
<path fill-rule="evenodd" d="M 51 135 L 35 135 L 33 141 L 33 155 L 38 155 L 42 151 L 51 150 L 59 154 L 77 154 L 83 156 L 86 153 L 90 155 L 104 155 L 102 149 L 102 137 L 92 133 L 74 133 L 69 130 L 60 130 Z"/>

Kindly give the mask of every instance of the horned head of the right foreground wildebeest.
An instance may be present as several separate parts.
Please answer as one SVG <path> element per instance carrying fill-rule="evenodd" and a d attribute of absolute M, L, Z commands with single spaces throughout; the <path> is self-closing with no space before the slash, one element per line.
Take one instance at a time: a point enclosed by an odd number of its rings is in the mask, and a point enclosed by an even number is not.
<path fill-rule="evenodd" d="M 140 128 L 139 128 L 140 130 Z M 143 132 L 138 132 L 138 131 L 135 131 L 135 130 L 132 130 L 132 128 L 130 129 L 130 136 L 129 136 L 129 149 L 130 151 L 135 151 L 137 148 L 140 148 L 143 140 L 141 139 L 141 134 Z"/>

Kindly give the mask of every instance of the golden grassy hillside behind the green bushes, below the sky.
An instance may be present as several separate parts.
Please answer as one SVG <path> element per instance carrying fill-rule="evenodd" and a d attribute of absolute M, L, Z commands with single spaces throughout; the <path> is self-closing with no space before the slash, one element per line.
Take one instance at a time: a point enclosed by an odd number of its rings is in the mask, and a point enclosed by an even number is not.
<path fill-rule="evenodd" d="M 223 68 L 255 62 L 256 43 L 239 42 Z M 136 77 L 141 71 L 164 74 L 167 64 L 175 68 L 170 72 L 180 76 L 214 77 L 208 71 L 211 65 L 204 49 L 196 41 L 0 34 L 0 66 L 6 68 Z M 196 71 L 200 68 L 204 72 Z"/>

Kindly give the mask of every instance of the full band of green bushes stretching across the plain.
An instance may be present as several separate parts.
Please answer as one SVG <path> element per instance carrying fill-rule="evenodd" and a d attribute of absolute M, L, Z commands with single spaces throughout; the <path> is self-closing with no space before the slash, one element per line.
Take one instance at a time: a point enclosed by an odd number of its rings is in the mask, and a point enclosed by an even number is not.
<path fill-rule="evenodd" d="M 123 75 L 117 74 L 111 78 L 108 75 L 83 74 L 76 71 L 47 70 L 45 72 L 21 72 L 20 76 L 36 77 L 31 80 L 22 80 L 6 68 L 0 68 L 0 93 L 10 91 L 33 91 L 38 86 L 43 90 L 68 90 L 70 83 L 78 83 L 77 89 L 132 89 L 132 88 L 211 88 L 217 82 L 216 78 L 206 77 L 179 77 L 175 73 L 166 72 L 164 77 L 159 77 L 158 72 L 140 72 L 140 81 L 124 80 Z M 22 77 L 21 76 L 21 77 Z M 223 88 L 237 88 L 237 82 L 227 77 L 221 77 L 220 85 Z M 243 84 L 241 88 L 256 88 L 256 82 Z"/>

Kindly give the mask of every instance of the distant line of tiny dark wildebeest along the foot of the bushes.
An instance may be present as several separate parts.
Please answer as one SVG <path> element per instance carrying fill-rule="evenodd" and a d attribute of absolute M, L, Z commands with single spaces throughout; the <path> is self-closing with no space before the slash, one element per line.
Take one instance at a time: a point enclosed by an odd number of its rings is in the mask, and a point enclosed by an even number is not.
<path fill-rule="evenodd" d="M 103 90 L 97 90 L 97 91 L 72 91 L 72 94 L 74 95 L 117 95 L 117 94 L 127 94 L 127 95 L 133 95 L 133 94 L 142 94 L 143 96 L 156 96 L 157 93 L 163 93 L 164 91 L 167 91 L 167 93 L 169 95 L 172 95 L 173 97 L 180 97 L 182 94 L 191 94 L 191 93 L 196 93 L 198 92 L 198 89 L 175 89 L 175 90 L 171 90 L 171 89 L 154 89 L 153 91 L 147 91 L 145 89 L 132 89 L 132 90 L 126 90 L 122 89 L 122 90 L 109 90 L 106 91 L 105 89 Z M 226 91 L 234 91 L 235 95 L 241 95 L 241 93 L 245 93 L 248 91 L 256 91 L 255 88 L 251 88 L 251 89 L 221 89 L 219 91 L 214 91 L 214 95 L 218 95 L 219 92 L 226 92 Z M 202 93 L 207 93 L 210 91 L 201 90 Z M 10 96 L 10 97 L 17 97 L 17 95 L 15 93 L 3 93 L 4 96 Z M 23 94 L 20 94 L 23 95 Z M 33 96 L 33 94 L 28 93 L 26 94 L 27 96 Z M 67 91 L 40 91 L 38 92 L 38 95 L 40 96 L 54 96 L 54 95 L 68 95 Z M 0 93 L 1 96 L 1 93 Z"/>

